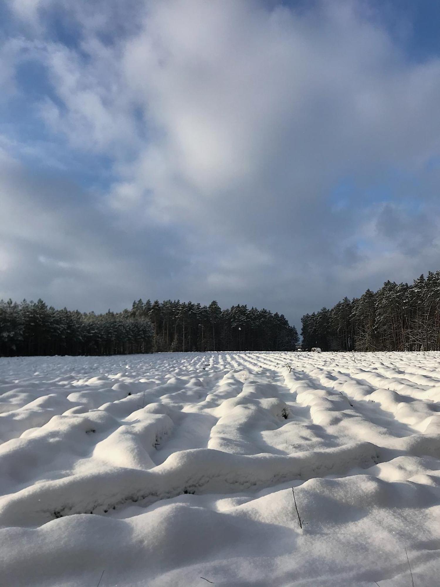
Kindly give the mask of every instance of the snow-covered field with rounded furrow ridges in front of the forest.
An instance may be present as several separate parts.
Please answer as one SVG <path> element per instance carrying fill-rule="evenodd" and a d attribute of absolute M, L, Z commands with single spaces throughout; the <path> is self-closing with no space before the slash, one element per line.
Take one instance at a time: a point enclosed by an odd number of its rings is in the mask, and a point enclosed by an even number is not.
<path fill-rule="evenodd" d="M 2 587 L 440 585 L 440 353 L 4 358 L 0 413 Z"/>

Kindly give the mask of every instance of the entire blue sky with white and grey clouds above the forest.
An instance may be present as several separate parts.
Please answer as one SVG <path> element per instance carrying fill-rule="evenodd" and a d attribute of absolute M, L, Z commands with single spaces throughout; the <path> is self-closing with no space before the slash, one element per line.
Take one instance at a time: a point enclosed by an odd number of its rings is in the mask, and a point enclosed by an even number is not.
<path fill-rule="evenodd" d="M 438 269 L 438 3 L 1 10 L 0 297 L 299 326 Z"/>

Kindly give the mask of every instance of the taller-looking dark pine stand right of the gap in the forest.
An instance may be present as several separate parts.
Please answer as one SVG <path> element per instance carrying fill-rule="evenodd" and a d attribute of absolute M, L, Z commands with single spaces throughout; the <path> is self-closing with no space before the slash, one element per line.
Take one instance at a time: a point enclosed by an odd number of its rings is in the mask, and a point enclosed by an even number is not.
<path fill-rule="evenodd" d="M 303 349 L 440 350 L 440 271 L 411 285 L 386 281 L 301 319 Z"/>

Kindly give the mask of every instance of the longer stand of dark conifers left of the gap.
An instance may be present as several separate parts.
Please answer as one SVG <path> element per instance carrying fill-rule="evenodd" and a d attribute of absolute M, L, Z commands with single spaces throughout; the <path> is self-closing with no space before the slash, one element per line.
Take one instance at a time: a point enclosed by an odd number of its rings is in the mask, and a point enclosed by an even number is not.
<path fill-rule="evenodd" d="M 141 299 L 103 314 L 61 310 L 42 299 L 0 301 L 0 356 L 123 355 L 209 350 L 292 350 L 295 326 L 285 316 L 245 305 Z"/>

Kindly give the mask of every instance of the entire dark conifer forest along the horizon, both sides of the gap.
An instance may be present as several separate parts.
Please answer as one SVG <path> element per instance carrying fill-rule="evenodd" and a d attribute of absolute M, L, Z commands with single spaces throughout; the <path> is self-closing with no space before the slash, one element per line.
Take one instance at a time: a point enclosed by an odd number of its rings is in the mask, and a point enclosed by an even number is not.
<path fill-rule="evenodd" d="M 412 285 L 387 281 L 301 322 L 303 350 L 440 350 L 440 271 Z M 296 350 L 298 344 L 283 314 L 246 305 L 139 299 L 131 309 L 97 314 L 55 309 L 42 299 L 0 301 L 0 356 Z"/>

